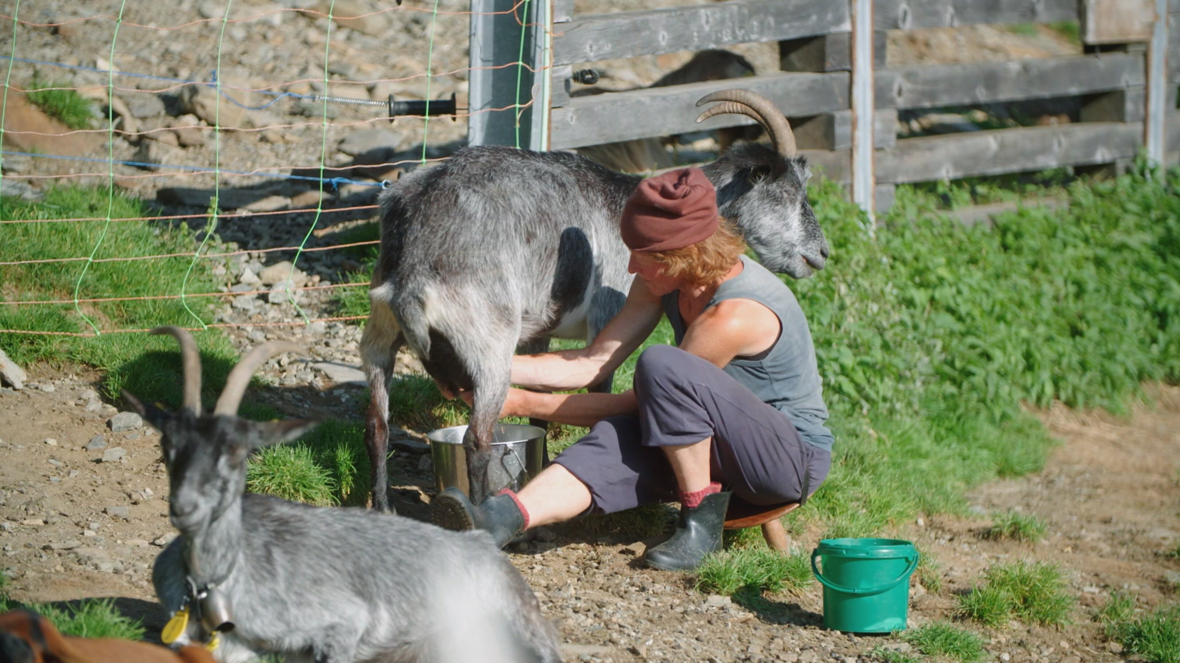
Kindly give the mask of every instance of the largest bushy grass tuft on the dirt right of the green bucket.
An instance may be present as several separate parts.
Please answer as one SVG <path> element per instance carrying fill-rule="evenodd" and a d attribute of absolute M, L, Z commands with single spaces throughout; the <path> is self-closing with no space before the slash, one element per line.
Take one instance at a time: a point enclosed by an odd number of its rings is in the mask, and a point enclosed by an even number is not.
<path fill-rule="evenodd" d="M 1074 597 L 1066 593 L 1061 567 L 1047 562 L 994 564 L 986 584 L 974 585 L 958 599 L 957 615 L 986 626 L 1009 619 L 1060 626 L 1069 623 Z"/>

